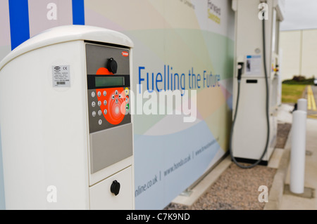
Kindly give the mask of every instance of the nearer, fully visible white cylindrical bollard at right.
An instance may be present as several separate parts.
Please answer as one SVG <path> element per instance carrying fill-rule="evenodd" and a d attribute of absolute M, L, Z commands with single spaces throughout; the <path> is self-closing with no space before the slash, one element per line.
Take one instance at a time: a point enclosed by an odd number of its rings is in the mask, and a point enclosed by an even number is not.
<path fill-rule="evenodd" d="M 304 193 L 305 151 L 306 151 L 306 117 L 302 110 L 293 112 L 292 147 L 290 156 L 290 191 Z"/>

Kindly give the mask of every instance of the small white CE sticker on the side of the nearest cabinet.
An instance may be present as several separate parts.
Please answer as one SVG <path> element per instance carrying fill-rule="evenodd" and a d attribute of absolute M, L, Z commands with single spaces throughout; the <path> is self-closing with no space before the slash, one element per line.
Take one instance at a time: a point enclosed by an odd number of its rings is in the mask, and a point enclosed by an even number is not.
<path fill-rule="evenodd" d="M 70 65 L 52 66 L 53 87 L 70 87 Z"/>

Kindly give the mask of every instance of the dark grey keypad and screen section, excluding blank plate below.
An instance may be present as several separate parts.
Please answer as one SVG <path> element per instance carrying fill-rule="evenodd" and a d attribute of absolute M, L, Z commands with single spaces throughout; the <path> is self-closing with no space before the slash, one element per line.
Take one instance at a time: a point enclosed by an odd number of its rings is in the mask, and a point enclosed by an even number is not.
<path fill-rule="evenodd" d="M 89 133 L 131 123 L 129 49 L 86 44 Z"/>

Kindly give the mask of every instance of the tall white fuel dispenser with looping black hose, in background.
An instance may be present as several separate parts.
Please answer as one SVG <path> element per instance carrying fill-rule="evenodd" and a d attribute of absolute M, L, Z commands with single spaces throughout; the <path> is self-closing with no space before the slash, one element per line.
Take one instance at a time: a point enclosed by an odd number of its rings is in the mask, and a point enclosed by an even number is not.
<path fill-rule="evenodd" d="M 236 70 L 230 154 L 242 168 L 268 164 L 275 148 L 281 85 L 278 37 L 284 4 L 278 0 L 232 1 Z"/>

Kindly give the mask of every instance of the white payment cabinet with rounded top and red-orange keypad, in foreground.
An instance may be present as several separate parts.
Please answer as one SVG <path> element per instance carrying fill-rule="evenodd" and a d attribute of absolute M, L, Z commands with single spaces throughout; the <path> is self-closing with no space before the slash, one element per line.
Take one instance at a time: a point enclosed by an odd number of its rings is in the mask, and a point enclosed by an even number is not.
<path fill-rule="evenodd" d="M 6 209 L 134 209 L 132 41 L 55 27 L 0 62 Z"/>

